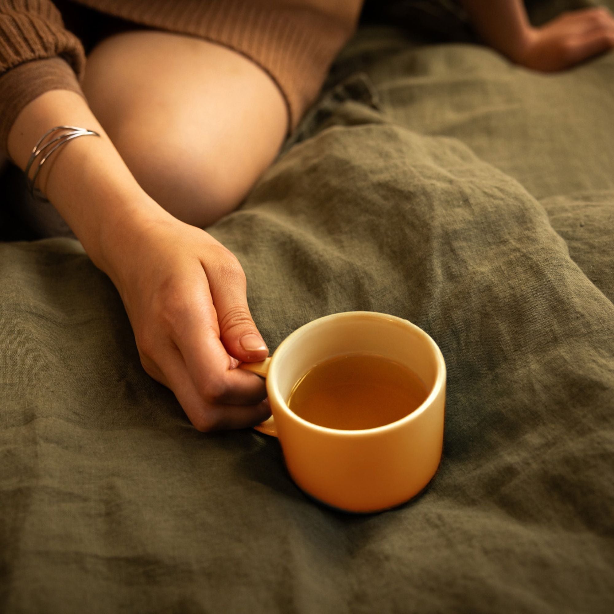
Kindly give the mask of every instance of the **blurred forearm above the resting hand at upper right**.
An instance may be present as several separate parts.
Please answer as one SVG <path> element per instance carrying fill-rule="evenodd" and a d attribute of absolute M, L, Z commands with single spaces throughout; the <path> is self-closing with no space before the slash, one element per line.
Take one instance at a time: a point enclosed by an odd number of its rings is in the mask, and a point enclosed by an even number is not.
<path fill-rule="evenodd" d="M 518 55 L 531 26 L 523 0 L 462 0 L 486 44 L 510 58 Z"/>

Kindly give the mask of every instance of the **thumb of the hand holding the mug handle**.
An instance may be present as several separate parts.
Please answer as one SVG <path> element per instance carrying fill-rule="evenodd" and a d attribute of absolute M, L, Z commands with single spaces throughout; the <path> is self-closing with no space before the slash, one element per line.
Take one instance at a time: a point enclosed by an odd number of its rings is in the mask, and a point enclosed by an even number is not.
<path fill-rule="evenodd" d="M 218 280 L 212 279 L 211 275 L 208 277 L 220 327 L 220 341 L 228 354 L 243 362 L 264 360 L 268 348 L 249 313 L 243 270 L 233 279 L 224 276 L 222 283 L 216 283 Z"/>

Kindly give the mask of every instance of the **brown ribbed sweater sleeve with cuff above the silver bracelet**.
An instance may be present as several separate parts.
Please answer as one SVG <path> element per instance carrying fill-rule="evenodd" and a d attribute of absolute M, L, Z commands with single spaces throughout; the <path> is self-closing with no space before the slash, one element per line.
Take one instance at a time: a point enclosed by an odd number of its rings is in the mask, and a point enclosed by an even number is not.
<path fill-rule="evenodd" d="M 49 0 L 0 0 L 0 149 L 30 101 L 47 90 L 79 87 L 85 53 Z"/>

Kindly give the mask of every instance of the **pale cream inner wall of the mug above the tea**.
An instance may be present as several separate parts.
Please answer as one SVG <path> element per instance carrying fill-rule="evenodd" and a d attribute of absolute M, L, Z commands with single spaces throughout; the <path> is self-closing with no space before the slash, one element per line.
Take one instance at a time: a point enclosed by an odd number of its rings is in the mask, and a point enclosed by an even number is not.
<path fill-rule="evenodd" d="M 268 379 L 287 407 L 294 385 L 311 368 L 337 356 L 360 353 L 402 363 L 418 375 L 429 395 L 443 378 L 443 357 L 427 333 L 398 317 L 354 311 L 322 317 L 295 330 L 274 353 Z"/>

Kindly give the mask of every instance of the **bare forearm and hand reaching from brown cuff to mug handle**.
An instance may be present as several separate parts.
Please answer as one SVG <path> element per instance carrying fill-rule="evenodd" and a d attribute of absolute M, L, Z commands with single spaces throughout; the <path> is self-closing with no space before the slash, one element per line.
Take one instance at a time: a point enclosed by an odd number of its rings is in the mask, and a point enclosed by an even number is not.
<path fill-rule="evenodd" d="M 268 354 L 238 260 L 144 192 L 74 91 L 45 91 L 26 104 L 9 133 L 12 160 L 25 169 L 34 143 L 58 125 L 85 126 L 101 138 L 61 147 L 38 187 L 119 290 L 147 373 L 175 393 L 198 430 L 268 418 L 264 381 L 236 368 Z"/>

